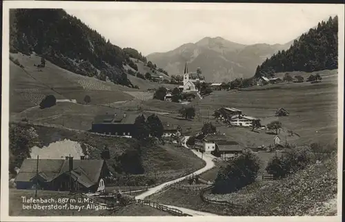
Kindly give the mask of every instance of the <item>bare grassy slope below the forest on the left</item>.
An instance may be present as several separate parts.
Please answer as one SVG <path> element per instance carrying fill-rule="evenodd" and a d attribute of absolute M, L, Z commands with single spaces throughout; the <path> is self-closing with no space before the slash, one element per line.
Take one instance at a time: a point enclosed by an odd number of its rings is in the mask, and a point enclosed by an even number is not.
<path fill-rule="evenodd" d="M 133 97 L 122 91 L 135 90 L 112 82 L 101 81 L 94 77 L 84 77 L 46 61 L 46 67 L 37 68 L 41 57 L 34 54 L 10 54 L 10 112 L 21 112 L 39 105 L 48 94 L 57 99 L 76 99 L 84 103 L 86 95 L 91 97 L 91 104 L 107 104 L 126 101 Z"/>

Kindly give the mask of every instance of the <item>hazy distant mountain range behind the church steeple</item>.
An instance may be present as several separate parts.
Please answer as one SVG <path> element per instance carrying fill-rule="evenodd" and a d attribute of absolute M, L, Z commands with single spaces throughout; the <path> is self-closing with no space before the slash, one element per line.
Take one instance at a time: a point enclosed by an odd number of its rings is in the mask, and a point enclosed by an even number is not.
<path fill-rule="evenodd" d="M 298 38 L 297 38 L 298 39 Z M 287 50 L 295 39 L 285 44 L 257 43 L 243 45 L 221 37 L 205 37 L 196 43 L 186 43 L 169 52 L 148 54 L 148 61 L 164 68 L 169 75 L 182 74 L 201 68 L 206 81 L 231 81 L 235 78 L 253 77 L 257 65 L 279 50 Z"/>

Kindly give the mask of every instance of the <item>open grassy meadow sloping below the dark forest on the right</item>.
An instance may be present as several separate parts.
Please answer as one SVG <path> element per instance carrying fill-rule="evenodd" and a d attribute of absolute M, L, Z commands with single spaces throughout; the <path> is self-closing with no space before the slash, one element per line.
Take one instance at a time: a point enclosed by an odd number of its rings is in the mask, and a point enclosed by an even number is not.
<path fill-rule="evenodd" d="M 296 145 L 333 142 L 337 137 L 337 79 L 334 76 L 337 70 L 324 72 L 328 75 L 322 74 L 322 83 L 290 83 L 286 88 L 270 90 L 215 91 L 199 101 L 201 115 L 207 119 L 208 113 L 213 114 L 217 108 L 238 108 L 248 116 L 263 119 L 264 124 L 276 119 L 281 121 L 284 129 L 293 130 L 300 135 L 287 137 L 288 141 Z M 274 117 L 277 108 L 281 107 L 288 110 L 290 116 Z M 268 134 L 259 130 L 259 133 L 242 128 L 223 127 L 219 130 L 243 141 L 245 145 L 262 145 L 260 143 L 263 141 L 272 143 L 274 137 L 268 137 Z M 282 132 L 282 141 L 285 136 L 286 132 Z"/>

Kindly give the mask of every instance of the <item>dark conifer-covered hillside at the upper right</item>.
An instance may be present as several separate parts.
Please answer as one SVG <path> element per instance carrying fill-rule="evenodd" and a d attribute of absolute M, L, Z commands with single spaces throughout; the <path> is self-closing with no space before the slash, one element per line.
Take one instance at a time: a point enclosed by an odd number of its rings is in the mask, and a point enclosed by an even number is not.
<path fill-rule="evenodd" d="M 338 17 L 322 21 L 316 28 L 302 34 L 288 50 L 281 50 L 262 65 L 255 77 L 275 72 L 315 72 L 338 68 Z"/>

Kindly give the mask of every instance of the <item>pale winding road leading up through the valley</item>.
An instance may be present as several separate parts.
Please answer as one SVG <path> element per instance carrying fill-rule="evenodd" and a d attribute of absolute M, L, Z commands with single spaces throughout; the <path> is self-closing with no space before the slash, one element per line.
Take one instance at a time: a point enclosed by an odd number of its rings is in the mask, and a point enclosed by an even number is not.
<path fill-rule="evenodd" d="M 184 139 L 183 145 L 185 148 L 188 148 L 188 146 L 186 145 L 186 141 L 188 141 L 188 138 L 189 137 L 185 137 L 185 139 Z M 154 188 L 150 188 L 150 189 L 148 189 L 148 191 L 146 191 L 142 194 L 139 194 L 138 196 L 135 196 L 135 199 L 145 199 L 147 196 L 150 196 L 152 194 L 155 194 L 155 193 L 161 191 L 162 189 L 164 189 L 168 185 L 172 185 L 173 183 L 178 183 L 178 182 L 186 179 L 188 176 L 192 176 L 193 174 L 198 175 L 198 174 L 206 172 L 207 170 L 210 170 L 210 169 L 215 167 L 215 163 L 213 162 L 213 158 L 214 158 L 213 155 L 210 155 L 210 154 L 204 154 L 203 155 L 203 154 L 201 154 L 201 152 L 197 152 L 195 150 L 191 150 L 191 151 L 194 152 L 194 154 L 197 155 L 197 157 L 199 157 L 200 159 L 202 157 L 202 159 L 206 162 L 206 165 L 204 166 L 204 168 L 201 168 L 200 170 L 197 170 L 197 171 L 193 172 L 192 174 L 188 174 L 187 176 L 182 176 L 179 179 L 175 179 L 173 181 L 168 181 L 166 183 L 161 183 L 160 185 L 157 185 Z M 162 205 L 164 205 L 164 204 L 162 204 Z M 185 214 L 190 214 L 193 216 L 217 216 L 217 214 L 210 214 L 208 212 L 201 212 L 201 211 L 197 211 L 197 210 L 191 210 L 188 208 L 180 208 L 180 207 L 172 206 L 172 205 L 165 205 L 165 206 L 167 206 L 169 208 L 176 208 L 178 210 L 181 210 Z"/>

